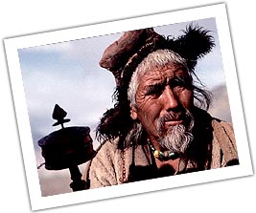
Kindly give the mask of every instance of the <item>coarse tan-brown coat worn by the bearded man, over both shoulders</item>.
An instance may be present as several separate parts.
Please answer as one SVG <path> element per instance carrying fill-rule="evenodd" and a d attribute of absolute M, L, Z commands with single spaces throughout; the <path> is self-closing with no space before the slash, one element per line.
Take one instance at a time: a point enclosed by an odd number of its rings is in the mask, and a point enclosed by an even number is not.
<path fill-rule="evenodd" d="M 208 158 L 206 162 L 200 166 L 192 160 L 180 159 L 175 175 L 238 163 L 238 153 L 231 124 L 213 118 L 211 125 L 211 149 L 210 154 L 206 155 Z M 134 149 L 129 147 L 122 151 L 117 148 L 118 140 L 119 138 L 116 138 L 112 142 L 105 142 L 96 157 L 89 163 L 88 170 L 84 175 L 86 181 L 90 183 L 90 188 L 159 177 L 154 175 L 157 173 L 157 169 L 148 144 L 137 145 Z"/>

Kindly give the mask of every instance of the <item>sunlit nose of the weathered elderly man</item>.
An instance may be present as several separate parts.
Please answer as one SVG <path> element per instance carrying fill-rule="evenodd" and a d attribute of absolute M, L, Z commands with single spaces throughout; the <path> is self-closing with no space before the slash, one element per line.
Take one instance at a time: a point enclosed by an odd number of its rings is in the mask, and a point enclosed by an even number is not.
<path fill-rule="evenodd" d="M 170 86 L 166 86 L 162 94 L 162 104 L 164 110 L 167 112 L 175 110 L 179 105 L 178 96 L 175 95 L 174 91 Z"/>

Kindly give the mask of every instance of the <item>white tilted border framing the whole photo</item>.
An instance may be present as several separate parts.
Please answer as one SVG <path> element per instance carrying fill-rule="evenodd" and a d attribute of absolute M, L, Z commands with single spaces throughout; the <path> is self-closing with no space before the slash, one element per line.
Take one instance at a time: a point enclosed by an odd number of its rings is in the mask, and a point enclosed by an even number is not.
<path fill-rule="evenodd" d="M 74 193 L 60 194 L 56 196 L 42 197 L 38 174 L 35 167 L 35 151 L 32 142 L 30 121 L 27 112 L 26 98 L 24 94 L 17 50 L 39 45 L 77 40 L 86 37 L 93 37 L 116 32 L 126 32 L 134 29 L 170 25 L 212 17 L 216 19 L 219 33 L 222 64 L 224 74 L 226 76 L 226 86 L 239 152 L 240 164 L 222 169 L 214 169 L 198 173 L 167 177 L 161 179 L 161 181 L 157 179 L 149 181 L 137 181 L 111 187 L 103 187 Z M 241 101 L 242 98 L 240 96 L 228 19 L 224 4 L 184 11 L 165 12 L 74 29 L 60 30 L 56 32 L 43 32 L 8 38 L 5 39 L 4 42 L 9 65 L 12 84 L 12 96 L 19 130 L 25 173 L 33 210 L 58 207 L 81 202 L 99 201 L 108 198 L 151 192 L 155 190 L 174 188 L 208 181 L 221 181 L 253 174 L 244 124 L 244 113 Z"/>

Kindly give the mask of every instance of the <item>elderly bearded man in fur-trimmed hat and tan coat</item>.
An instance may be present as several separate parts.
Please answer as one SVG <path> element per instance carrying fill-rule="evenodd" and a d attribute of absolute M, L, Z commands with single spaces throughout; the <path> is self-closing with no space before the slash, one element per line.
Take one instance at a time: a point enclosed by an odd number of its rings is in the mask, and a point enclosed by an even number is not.
<path fill-rule="evenodd" d="M 116 104 L 97 128 L 104 142 L 86 172 L 90 188 L 238 164 L 232 126 L 206 112 L 210 96 L 193 79 L 213 47 L 209 32 L 190 25 L 177 38 L 125 32 L 105 50 Z"/>

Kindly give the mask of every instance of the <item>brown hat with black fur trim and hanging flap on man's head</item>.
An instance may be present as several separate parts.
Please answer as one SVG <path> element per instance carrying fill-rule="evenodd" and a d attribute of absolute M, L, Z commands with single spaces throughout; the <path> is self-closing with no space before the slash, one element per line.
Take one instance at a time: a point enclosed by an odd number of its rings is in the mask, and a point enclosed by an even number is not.
<path fill-rule="evenodd" d="M 213 36 L 201 27 L 189 25 L 178 37 L 164 37 L 152 28 L 124 32 L 105 49 L 100 66 L 110 71 L 116 80 L 114 97 L 116 104 L 107 110 L 97 128 L 100 138 L 111 139 L 126 136 L 131 128 L 129 117 L 128 84 L 140 62 L 159 49 L 169 49 L 187 61 L 189 72 L 194 73 L 198 59 L 211 52 Z"/>

